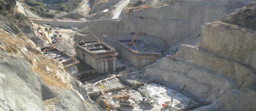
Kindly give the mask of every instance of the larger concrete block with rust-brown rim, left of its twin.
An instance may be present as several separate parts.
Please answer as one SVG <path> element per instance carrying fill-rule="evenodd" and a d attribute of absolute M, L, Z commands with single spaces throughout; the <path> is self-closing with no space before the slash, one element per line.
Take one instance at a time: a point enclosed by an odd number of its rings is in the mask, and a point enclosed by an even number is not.
<path fill-rule="evenodd" d="M 116 71 L 116 50 L 101 42 L 75 43 L 77 58 L 96 69 L 98 73 Z"/>

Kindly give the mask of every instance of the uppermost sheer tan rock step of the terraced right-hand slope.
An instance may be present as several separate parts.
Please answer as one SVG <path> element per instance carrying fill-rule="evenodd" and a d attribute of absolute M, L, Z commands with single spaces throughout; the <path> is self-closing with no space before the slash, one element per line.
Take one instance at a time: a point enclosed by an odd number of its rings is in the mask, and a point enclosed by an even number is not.
<path fill-rule="evenodd" d="M 248 56 L 256 50 L 254 29 L 214 22 L 202 27 L 202 36 L 199 48 L 240 63 L 246 63 Z"/>

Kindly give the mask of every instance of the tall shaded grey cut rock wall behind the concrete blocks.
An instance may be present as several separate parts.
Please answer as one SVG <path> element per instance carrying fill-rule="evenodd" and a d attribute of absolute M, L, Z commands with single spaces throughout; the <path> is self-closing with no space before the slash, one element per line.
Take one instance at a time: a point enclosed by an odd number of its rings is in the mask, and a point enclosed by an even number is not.
<path fill-rule="evenodd" d="M 161 38 L 169 44 L 198 36 L 201 26 L 220 19 L 251 0 L 171 0 L 162 7 L 131 11 L 123 14 L 125 32 L 135 32 L 141 16 L 144 18 L 140 32 Z"/>

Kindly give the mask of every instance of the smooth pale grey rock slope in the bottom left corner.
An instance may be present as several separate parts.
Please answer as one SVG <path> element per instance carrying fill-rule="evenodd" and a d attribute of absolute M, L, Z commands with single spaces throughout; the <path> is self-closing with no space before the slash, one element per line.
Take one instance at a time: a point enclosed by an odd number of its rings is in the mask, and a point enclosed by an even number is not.
<path fill-rule="evenodd" d="M 15 111 L 43 111 L 43 101 L 56 96 L 22 58 L 0 51 L 0 99 Z M 46 94 L 47 93 L 47 94 Z"/>

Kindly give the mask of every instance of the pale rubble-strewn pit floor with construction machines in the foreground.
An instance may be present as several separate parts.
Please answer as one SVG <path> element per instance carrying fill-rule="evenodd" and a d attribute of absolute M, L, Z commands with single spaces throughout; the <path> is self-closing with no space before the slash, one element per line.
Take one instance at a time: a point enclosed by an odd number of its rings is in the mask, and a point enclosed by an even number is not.
<path fill-rule="evenodd" d="M 145 77 L 147 78 L 147 77 Z M 151 81 L 145 79 L 148 86 L 149 98 L 154 100 L 156 104 L 153 106 L 146 106 L 139 102 L 140 98 L 144 97 L 145 87 L 144 79 L 141 72 L 117 74 L 117 75 L 103 75 L 94 77 L 87 81 L 85 87 L 90 98 L 96 101 L 102 109 L 105 109 L 105 101 L 107 100 L 111 109 L 117 110 L 184 110 L 188 108 L 196 108 L 202 106 L 203 103 L 184 95 L 184 93 L 164 86 L 158 83 L 150 83 Z M 97 84 L 96 84 L 97 83 Z M 164 101 L 171 101 L 173 94 L 173 104 L 168 107 L 162 107 Z M 116 95 L 130 95 L 129 99 L 118 100 Z M 120 105 L 122 101 L 134 101 L 135 106 Z"/>

